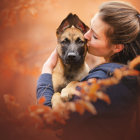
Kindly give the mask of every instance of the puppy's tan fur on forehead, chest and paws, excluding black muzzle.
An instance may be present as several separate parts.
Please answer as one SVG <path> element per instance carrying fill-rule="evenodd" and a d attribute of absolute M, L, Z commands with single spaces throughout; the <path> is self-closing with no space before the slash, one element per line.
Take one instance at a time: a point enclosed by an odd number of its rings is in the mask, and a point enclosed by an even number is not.
<path fill-rule="evenodd" d="M 75 15 L 73 15 L 75 16 Z M 75 18 L 75 17 L 74 17 Z M 81 21 L 79 25 L 81 25 Z M 77 22 L 76 22 L 77 23 Z M 58 45 L 57 45 L 57 52 L 59 56 L 62 56 L 62 46 L 61 43 L 65 38 L 70 40 L 71 44 L 75 43 L 77 38 L 80 38 L 82 41 L 85 41 L 84 35 L 82 31 L 73 25 L 71 27 L 68 27 L 68 22 L 65 21 L 65 23 L 61 23 L 63 26 L 60 25 L 60 27 L 57 29 L 59 32 L 57 32 L 57 39 L 58 39 Z M 66 24 L 66 25 L 65 25 Z M 82 23 L 83 24 L 83 23 Z M 68 27 L 65 29 L 65 26 Z M 88 27 L 86 27 L 87 29 Z M 65 29 L 62 31 L 62 29 Z M 75 45 L 71 45 L 75 49 Z M 87 53 L 87 46 L 84 46 L 84 57 Z M 52 107 L 56 108 L 58 104 L 62 104 L 62 99 L 64 101 L 68 101 L 74 92 L 74 89 L 76 87 L 76 83 L 81 80 L 83 77 L 85 77 L 89 72 L 89 67 L 84 62 L 83 64 L 80 64 L 80 67 L 78 69 L 73 69 L 70 71 L 70 65 L 64 64 L 62 59 L 59 57 L 57 65 L 55 69 L 53 70 L 52 74 L 52 81 L 53 81 L 53 88 L 54 88 L 54 95 L 52 97 Z M 68 76 L 71 76 L 72 78 L 67 78 Z M 62 88 L 61 93 L 58 92 L 58 89 Z M 71 89 L 71 90 L 70 90 Z"/>

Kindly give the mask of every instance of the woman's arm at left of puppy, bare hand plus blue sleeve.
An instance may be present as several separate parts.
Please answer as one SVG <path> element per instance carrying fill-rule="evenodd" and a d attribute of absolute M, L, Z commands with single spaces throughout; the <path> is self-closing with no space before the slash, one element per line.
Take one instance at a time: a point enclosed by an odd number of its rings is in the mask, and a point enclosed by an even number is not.
<path fill-rule="evenodd" d="M 54 93 L 53 84 L 52 84 L 52 71 L 56 66 L 58 54 L 56 49 L 52 52 L 48 60 L 44 63 L 42 68 L 42 74 L 40 75 L 37 81 L 37 99 L 45 97 L 45 105 L 51 107 L 51 99 Z"/>

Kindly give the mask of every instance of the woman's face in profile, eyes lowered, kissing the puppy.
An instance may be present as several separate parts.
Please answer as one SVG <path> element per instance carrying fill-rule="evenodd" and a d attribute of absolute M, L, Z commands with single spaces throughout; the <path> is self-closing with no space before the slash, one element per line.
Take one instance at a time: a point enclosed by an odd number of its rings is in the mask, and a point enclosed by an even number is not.
<path fill-rule="evenodd" d="M 88 40 L 88 52 L 95 56 L 101 56 L 108 59 L 113 54 L 114 46 L 109 43 L 106 31 L 110 26 L 100 19 L 97 13 L 91 20 L 91 28 L 85 33 L 84 37 Z"/>

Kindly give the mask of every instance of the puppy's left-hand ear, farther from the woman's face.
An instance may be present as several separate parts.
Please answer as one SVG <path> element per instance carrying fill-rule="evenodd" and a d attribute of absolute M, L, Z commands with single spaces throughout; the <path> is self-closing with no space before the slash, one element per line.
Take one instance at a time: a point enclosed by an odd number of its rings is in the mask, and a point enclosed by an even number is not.
<path fill-rule="evenodd" d="M 64 32 L 65 29 L 71 27 L 71 19 L 73 18 L 73 14 L 70 13 L 60 24 L 60 26 L 56 30 L 56 35 L 59 35 Z"/>

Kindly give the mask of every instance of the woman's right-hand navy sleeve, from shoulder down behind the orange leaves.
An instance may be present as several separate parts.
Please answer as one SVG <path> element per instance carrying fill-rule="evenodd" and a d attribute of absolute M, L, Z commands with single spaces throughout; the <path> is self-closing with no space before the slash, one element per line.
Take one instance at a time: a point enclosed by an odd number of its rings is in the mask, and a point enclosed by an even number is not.
<path fill-rule="evenodd" d="M 115 69 L 115 65 L 111 65 L 114 66 L 112 69 L 110 65 L 107 65 L 107 67 L 109 67 L 111 70 L 107 69 L 105 67 L 106 65 L 107 64 L 93 69 L 88 76 L 81 80 L 81 82 L 87 81 L 91 78 L 106 79 L 111 77 Z M 116 68 L 118 67 L 119 66 L 116 66 Z M 130 111 L 133 105 L 135 106 L 138 83 L 135 76 L 126 76 L 123 77 L 118 84 L 108 87 L 104 86 L 100 90 L 108 95 L 111 104 L 107 104 L 105 101 L 100 99 L 98 99 L 96 102 L 92 102 L 98 112 L 98 115 L 109 113 L 121 114 Z M 77 99 L 79 99 L 79 97 L 75 96 L 74 100 Z"/>

